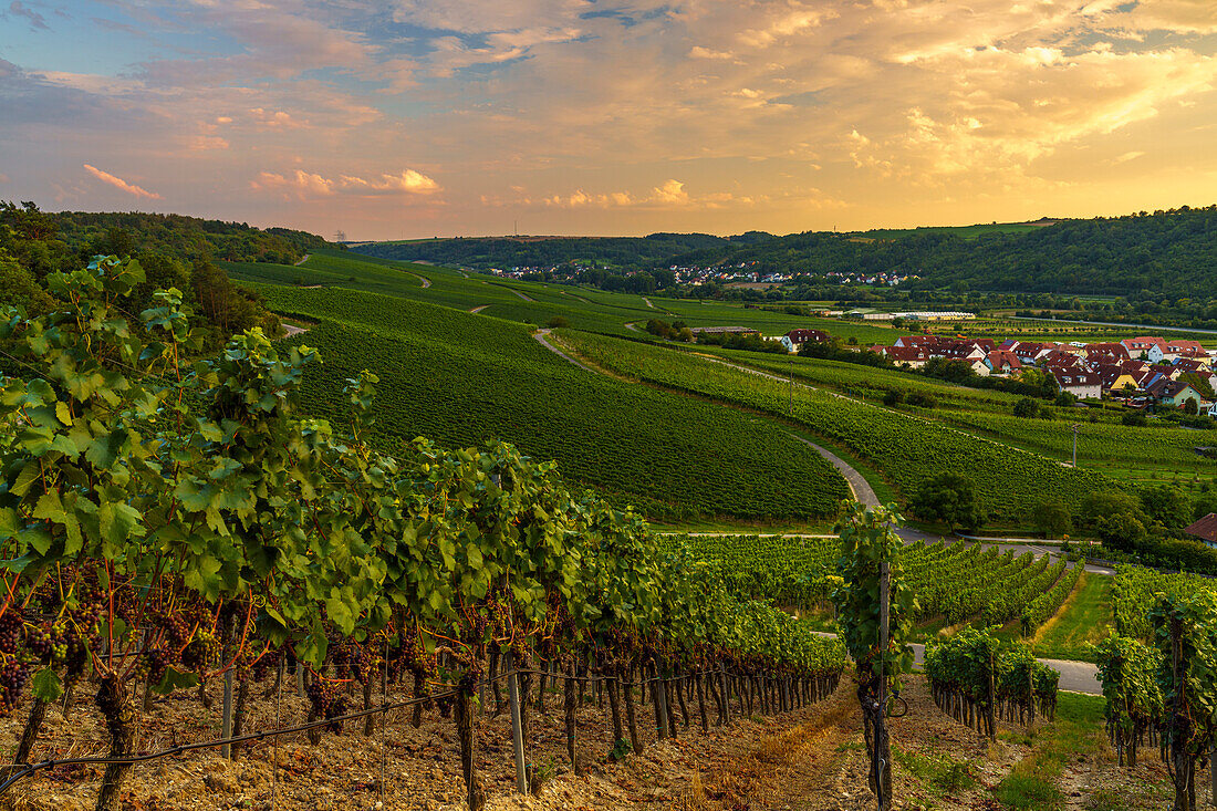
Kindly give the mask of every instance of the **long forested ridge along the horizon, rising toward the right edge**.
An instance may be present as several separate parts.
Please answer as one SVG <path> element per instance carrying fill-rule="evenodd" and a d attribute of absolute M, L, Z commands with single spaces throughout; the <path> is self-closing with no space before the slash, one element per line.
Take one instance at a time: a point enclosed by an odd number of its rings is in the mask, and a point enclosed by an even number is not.
<path fill-rule="evenodd" d="M 738 267 L 818 276 L 831 272 L 918 275 L 902 289 L 1207 297 L 1217 289 L 1217 206 L 1126 217 L 926 228 L 904 231 L 734 237 L 454 239 L 378 242 L 354 250 L 473 268 L 607 264 L 617 272 L 671 265 Z M 594 281 L 594 280 L 591 280 Z"/>

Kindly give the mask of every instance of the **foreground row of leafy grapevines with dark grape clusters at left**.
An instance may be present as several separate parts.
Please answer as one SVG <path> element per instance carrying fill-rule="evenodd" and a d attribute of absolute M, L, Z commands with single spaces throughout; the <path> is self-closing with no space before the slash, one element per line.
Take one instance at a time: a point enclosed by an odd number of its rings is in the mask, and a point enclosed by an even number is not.
<path fill-rule="evenodd" d="M 579 682 L 602 686 L 615 749 L 635 753 L 638 688 L 661 738 L 695 698 L 707 728 L 707 695 L 727 723 L 835 688 L 841 643 L 731 594 L 632 511 L 567 490 L 551 463 L 422 438 L 387 455 L 370 441 L 375 375 L 346 381 L 342 423 L 302 416 L 318 352 L 258 330 L 184 363 L 196 339 L 176 291 L 138 328 L 123 317 L 142 280 L 136 263 L 99 257 L 51 280 L 68 311 L 0 326 L 27 373 L 0 399 L 0 709 L 27 712 L 4 789 L 57 764 L 100 766 L 96 809 L 117 809 L 144 757 L 138 695 L 190 700 L 221 677 L 235 706 L 221 740 L 197 745 L 276 736 L 245 726 L 252 686 L 271 676 L 270 692 L 297 675 L 309 717 L 292 731 L 314 742 L 385 712 L 388 686 L 413 681 L 399 706 L 415 726 L 432 705 L 452 715 L 473 809 L 475 706 L 504 679 L 521 789 L 531 690 L 543 700 L 546 679 L 563 684 L 576 771 Z M 40 760 L 51 707 L 94 689 L 107 754 Z"/>

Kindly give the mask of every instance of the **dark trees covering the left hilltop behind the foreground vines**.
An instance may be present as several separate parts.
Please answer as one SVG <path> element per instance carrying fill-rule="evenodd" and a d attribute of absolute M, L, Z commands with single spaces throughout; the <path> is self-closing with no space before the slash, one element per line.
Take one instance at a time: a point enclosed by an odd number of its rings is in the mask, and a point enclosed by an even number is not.
<path fill-rule="evenodd" d="M 291 263 L 326 245 L 303 231 L 178 214 L 52 214 L 33 202 L 0 202 L 0 308 L 50 312 L 56 308 L 54 274 L 77 270 L 99 255 L 131 258 L 145 274 L 133 291 L 131 314 L 155 306 L 155 290 L 176 287 L 204 339 L 202 348 L 214 349 L 232 332 L 262 326 L 277 335 L 281 328 L 262 297 L 234 285 L 213 259 Z"/>

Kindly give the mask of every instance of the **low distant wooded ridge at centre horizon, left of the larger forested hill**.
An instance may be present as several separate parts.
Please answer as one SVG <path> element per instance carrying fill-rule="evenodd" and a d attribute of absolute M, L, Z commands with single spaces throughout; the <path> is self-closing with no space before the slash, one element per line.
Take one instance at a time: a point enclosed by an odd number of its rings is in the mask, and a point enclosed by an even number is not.
<path fill-rule="evenodd" d="M 568 262 L 607 264 L 621 270 L 667 267 L 673 256 L 697 251 L 728 252 L 733 247 L 774 239 L 750 231 L 739 236 L 651 234 L 650 236 L 484 236 L 404 242 L 369 242 L 352 251 L 382 259 L 434 262 L 477 268 L 549 267 Z"/>

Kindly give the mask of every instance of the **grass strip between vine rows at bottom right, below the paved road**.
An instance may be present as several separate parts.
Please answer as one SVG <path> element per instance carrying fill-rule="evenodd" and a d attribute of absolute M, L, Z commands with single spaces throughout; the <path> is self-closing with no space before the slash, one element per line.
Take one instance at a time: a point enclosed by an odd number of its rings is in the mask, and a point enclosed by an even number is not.
<path fill-rule="evenodd" d="M 1031 753 L 993 790 L 997 801 L 1008 809 L 1056 811 L 1064 807 L 1056 778 L 1065 764 L 1077 757 L 1093 759 L 1106 743 L 1103 697 L 1060 693 L 1054 721 L 1030 734 L 1011 729 L 998 737 L 1027 744 Z"/>

